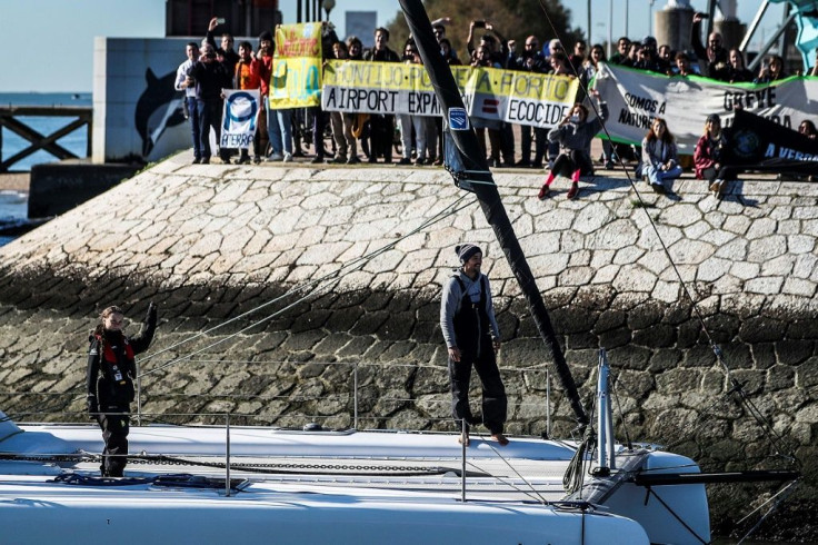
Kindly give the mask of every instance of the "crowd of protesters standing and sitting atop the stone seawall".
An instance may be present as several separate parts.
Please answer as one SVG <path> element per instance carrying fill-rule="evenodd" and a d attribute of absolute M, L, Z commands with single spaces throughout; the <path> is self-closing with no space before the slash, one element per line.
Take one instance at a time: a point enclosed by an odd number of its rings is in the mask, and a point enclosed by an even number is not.
<path fill-rule="evenodd" d="M 241 150 L 238 162 L 250 160 L 287 162 L 293 157 L 303 157 L 302 138 L 299 138 L 301 131 L 297 128 L 309 125 L 315 150 L 311 159 L 313 164 L 328 161 L 355 165 L 361 160 L 370 164 L 379 161 L 391 164 L 393 149 L 399 155 L 396 161 L 398 165 L 442 164 L 442 122 L 436 117 L 325 112 L 320 107 L 307 110 L 270 108 L 269 83 L 275 53 L 272 34 L 263 32 L 259 37 L 256 51 L 252 43 L 241 42 L 237 53 L 230 34 L 222 34 L 221 44 L 217 47 L 213 31 L 219 21 L 217 18 L 210 21 L 201 46 L 196 42 L 187 44 L 188 58 L 177 72 L 176 88 L 184 91 L 184 111 L 191 122 L 194 164 L 210 161 L 210 130 L 216 132 L 218 141 L 218 120 L 223 98 L 220 90 L 227 88 L 259 89 L 262 97 L 252 159 L 248 150 Z M 601 44 L 588 48 L 582 40 L 576 41 L 569 53 L 558 39 L 551 39 L 542 47 L 538 37 L 528 36 L 522 48 L 518 50 L 516 40 L 507 39 L 490 21 L 482 20 L 470 22 L 466 40 L 467 51 L 460 57 L 447 38 L 447 26 L 451 20 L 437 19 L 432 21 L 432 28 L 440 46 L 440 53 L 449 65 L 503 68 L 579 79 L 580 93 L 577 105 L 570 108 L 569 115 L 550 131 L 525 125 L 515 130 L 508 122 L 472 119 L 478 142 L 490 167 L 546 167 L 549 175 L 540 190 L 540 198 L 549 195 L 551 182 L 561 175 L 570 179 L 571 189 L 568 197 L 575 198 L 578 194 L 579 177 L 593 172 L 590 141 L 601 129 L 600 118 L 605 120 L 607 116 L 605 103 L 599 103 L 596 108 L 598 116 L 593 118 L 593 122 L 586 122 L 589 117 L 586 105 L 590 105 L 586 90 L 601 62 L 670 77 L 701 75 L 731 83 L 765 83 L 787 77 L 781 57 L 769 56 L 761 63 L 759 71 L 752 73 L 745 65 L 742 52 L 738 49 L 726 49 L 718 32 L 711 32 L 707 43 L 702 43 L 701 22 L 702 16 L 696 13 L 691 31 L 692 51 L 674 51 L 667 44 L 658 44 L 650 36 L 642 40 L 622 37 L 617 41 L 616 53 L 610 59 L 607 58 Z M 331 26 L 325 24 L 322 36 L 325 59 L 422 63 L 417 44 L 411 38 L 403 43 L 401 53 L 392 49 L 389 40 L 389 31 L 377 28 L 373 32 L 373 47 L 365 49 L 358 37 L 350 36 L 346 40 L 339 40 Z M 814 72 L 816 70 L 814 69 Z M 305 123 L 305 120 L 309 120 L 309 123 Z M 815 126 L 811 121 L 806 123 L 808 125 L 805 133 L 809 133 L 810 130 L 814 133 Z M 615 147 L 603 139 L 602 153 L 598 162 L 606 169 L 611 169 L 615 168 L 619 157 L 630 155 L 638 162 L 637 176 L 644 177 L 650 187 L 662 192 L 667 180 L 681 175 L 671 126 L 672 120 L 655 119 L 641 142 L 641 148 L 631 149 L 621 145 Z M 327 149 L 325 142 L 327 127 L 330 127 L 331 149 Z M 714 157 L 718 155 L 717 149 L 725 147 L 722 141 L 725 136 L 719 129 L 718 116 L 708 117 L 705 132 L 694 156 L 696 176 L 709 180 L 715 195 L 721 195 L 724 181 L 735 177 L 729 170 L 722 171 L 718 157 Z M 519 151 L 516 132 L 519 133 Z M 399 135 L 399 139 L 396 135 Z M 707 143 L 711 141 L 720 143 Z M 359 149 L 363 159 L 359 157 Z M 219 155 L 223 162 L 230 162 L 226 150 L 220 150 Z"/>

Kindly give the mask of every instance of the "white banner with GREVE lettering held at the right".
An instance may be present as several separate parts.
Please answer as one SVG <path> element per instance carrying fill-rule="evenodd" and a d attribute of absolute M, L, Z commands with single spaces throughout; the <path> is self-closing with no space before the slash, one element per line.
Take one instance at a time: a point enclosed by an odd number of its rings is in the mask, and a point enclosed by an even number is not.
<path fill-rule="evenodd" d="M 737 109 L 760 116 L 788 129 L 815 117 L 818 78 L 788 78 L 765 85 L 725 83 L 696 76 L 662 76 L 605 65 L 595 85 L 608 102 L 606 123 L 616 141 L 639 143 L 657 117 L 667 121 L 679 152 L 691 155 L 710 113 L 732 123 Z"/>

